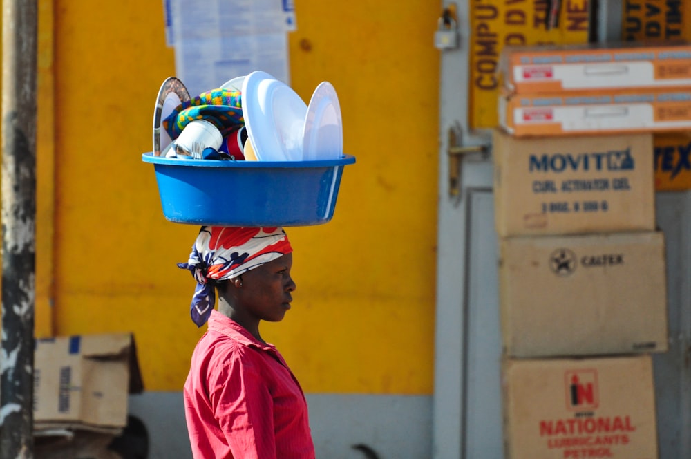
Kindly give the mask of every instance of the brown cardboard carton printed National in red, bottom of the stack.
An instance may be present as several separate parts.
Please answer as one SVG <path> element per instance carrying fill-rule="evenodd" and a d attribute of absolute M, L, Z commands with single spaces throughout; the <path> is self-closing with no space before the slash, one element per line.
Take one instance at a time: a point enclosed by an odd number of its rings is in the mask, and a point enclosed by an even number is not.
<path fill-rule="evenodd" d="M 506 360 L 507 459 L 658 457 L 650 355 Z"/>

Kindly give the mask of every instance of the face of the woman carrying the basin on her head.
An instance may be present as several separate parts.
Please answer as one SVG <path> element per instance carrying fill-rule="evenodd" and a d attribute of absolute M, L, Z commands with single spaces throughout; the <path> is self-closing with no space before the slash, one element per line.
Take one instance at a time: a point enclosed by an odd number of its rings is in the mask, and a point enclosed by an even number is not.
<path fill-rule="evenodd" d="M 242 275 L 238 300 L 249 317 L 278 322 L 290 309 L 295 283 L 290 277 L 293 255 L 285 254 Z"/>

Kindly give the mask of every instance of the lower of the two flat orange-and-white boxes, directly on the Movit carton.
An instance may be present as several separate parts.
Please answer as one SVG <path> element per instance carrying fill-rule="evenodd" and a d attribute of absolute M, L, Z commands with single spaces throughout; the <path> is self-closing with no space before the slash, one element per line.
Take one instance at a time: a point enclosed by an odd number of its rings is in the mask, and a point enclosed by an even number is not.
<path fill-rule="evenodd" d="M 606 93 L 499 97 L 499 125 L 519 137 L 582 133 L 688 131 L 691 86 Z"/>

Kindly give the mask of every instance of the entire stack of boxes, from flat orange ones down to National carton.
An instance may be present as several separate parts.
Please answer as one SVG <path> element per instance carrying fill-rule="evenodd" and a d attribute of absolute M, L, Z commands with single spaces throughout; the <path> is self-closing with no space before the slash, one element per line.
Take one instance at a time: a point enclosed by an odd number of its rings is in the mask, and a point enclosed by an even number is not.
<path fill-rule="evenodd" d="M 507 457 L 656 458 L 650 353 L 667 350 L 668 327 L 653 132 L 691 127 L 691 46 L 509 47 L 502 59 Z"/>

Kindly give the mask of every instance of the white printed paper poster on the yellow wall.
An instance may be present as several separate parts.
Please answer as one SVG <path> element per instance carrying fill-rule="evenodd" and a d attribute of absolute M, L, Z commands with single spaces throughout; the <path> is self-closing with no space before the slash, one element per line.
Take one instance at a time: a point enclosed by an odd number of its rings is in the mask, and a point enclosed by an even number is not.
<path fill-rule="evenodd" d="M 258 70 L 290 84 L 292 0 L 164 0 L 164 16 L 176 77 L 192 97 Z"/>

